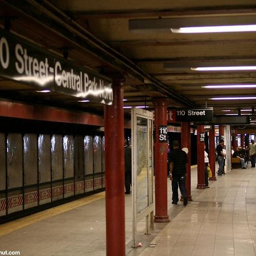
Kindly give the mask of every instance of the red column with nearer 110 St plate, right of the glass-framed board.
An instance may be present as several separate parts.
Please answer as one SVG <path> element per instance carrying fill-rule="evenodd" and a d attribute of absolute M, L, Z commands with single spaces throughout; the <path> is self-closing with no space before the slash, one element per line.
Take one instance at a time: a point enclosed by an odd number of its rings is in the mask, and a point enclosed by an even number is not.
<path fill-rule="evenodd" d="M 167 126 L 167 101 L 155 104 L 155 222 L 169 222 L 167 213 L 167 143 L 159 142 L 159 126 Z"/>

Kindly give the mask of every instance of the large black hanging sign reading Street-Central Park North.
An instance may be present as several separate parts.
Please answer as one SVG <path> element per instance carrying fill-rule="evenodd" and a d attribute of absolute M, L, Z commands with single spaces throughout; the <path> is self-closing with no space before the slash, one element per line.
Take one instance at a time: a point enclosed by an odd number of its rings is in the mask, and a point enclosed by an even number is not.
<path fill-rule="evenodd" d="M 0 76 L 111 105 L 112 80 L 0 30 Z"/>

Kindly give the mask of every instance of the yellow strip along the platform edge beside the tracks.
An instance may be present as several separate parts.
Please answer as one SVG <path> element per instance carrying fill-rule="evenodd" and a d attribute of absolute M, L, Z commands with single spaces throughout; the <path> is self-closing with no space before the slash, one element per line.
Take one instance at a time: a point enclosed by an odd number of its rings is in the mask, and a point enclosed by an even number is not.
<path fill-rule="evenodd" d="M 42 220 L 46 220 L 46 218 L 56 216 L 57 214 L 60 213 L 68 212 L 68 210 L 72 210 L 77 207 L 81 207 L 82 205 L 86 205 L 94 201 L 100 200 L 104 197 L 105 192 L 100 192 L 91 196 L 83 197 L 75 201 L 71 201 L 66 204 L 58 205 L 57 207 L 43 210 L 42 212 L 31 214 L 30 216 L 19 218 L 18 220 L 7 222 L 5 224 L 0 225 L 0 237 L 5 236 L 6 234 L 9 234 L 11 232 L 14 232 L 15 230 L 24 228 L 25 226 L 34 224 Z"/>

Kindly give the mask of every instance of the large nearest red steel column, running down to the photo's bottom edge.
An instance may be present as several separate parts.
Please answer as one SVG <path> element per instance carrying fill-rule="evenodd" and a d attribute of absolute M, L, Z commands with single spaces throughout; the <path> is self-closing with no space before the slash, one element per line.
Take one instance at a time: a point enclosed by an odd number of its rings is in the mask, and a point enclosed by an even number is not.
<path fill-rule="evenodd" d="M 122 79 L 113 80 L 105 106 L 106 255 L 125 255 L 125 167 Z"/>

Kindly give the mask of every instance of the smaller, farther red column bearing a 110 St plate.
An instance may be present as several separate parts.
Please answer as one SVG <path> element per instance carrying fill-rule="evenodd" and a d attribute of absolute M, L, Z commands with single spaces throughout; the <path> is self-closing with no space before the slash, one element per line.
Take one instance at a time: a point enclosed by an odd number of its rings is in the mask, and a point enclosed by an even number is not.
<path fill-rule="evenodd" d="M 197 125 L 197 186 L 196 188 L 205 188 L 204 180 L 204 137 L 205 131 L 203 125 Z"/>

